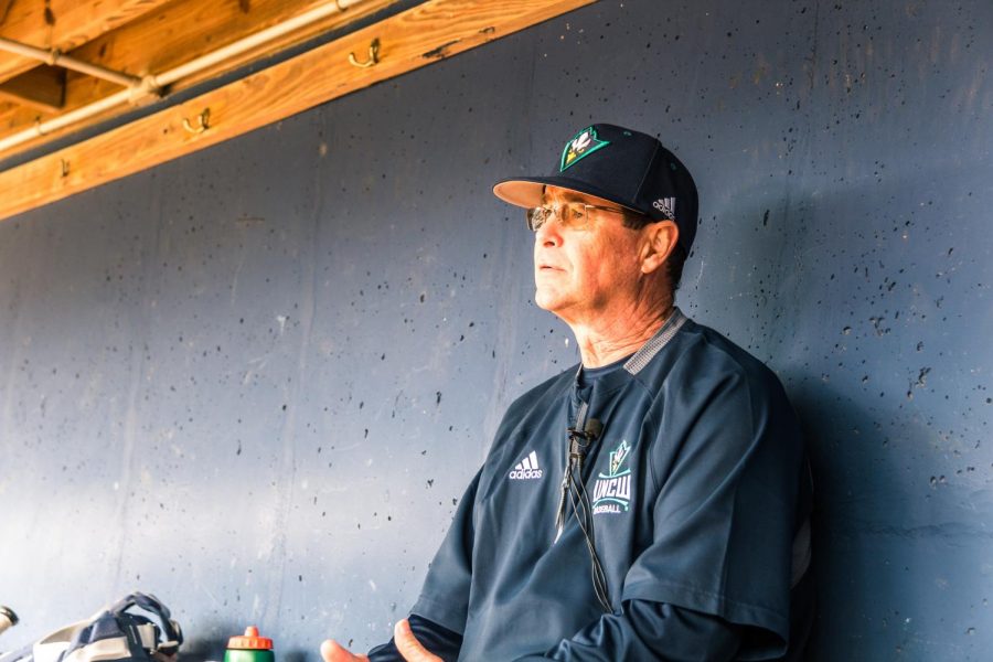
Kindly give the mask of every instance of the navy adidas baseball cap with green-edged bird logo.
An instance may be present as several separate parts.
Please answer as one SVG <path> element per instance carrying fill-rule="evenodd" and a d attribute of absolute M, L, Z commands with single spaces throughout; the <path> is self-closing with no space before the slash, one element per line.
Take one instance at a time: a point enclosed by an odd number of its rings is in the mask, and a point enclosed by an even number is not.
<path fill-rule="evenodd" d="M 649 216 L 673 221 L 680 245 L 690 253 L 696 235 L 696 184 L 686 167 L 647 134 L 597 124 L 569 138 L 548 177 L 515 177 L 493 186 L 496 197 L 532 209 L 545 186 L 596 195 Z"/>

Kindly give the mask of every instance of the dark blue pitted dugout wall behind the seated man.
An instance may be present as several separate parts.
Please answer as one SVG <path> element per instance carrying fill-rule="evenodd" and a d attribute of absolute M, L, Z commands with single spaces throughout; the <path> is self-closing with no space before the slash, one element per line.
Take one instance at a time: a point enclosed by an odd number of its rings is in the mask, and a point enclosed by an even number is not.
<path fill-rule="evenodd" d="M 591 121 L 695 173 L 679 295 L 811 445 L 814 660 L 993 648 L 993 4 L 601 1 L 0 223 L 0 650 L 141 589 L 364 649 L 576 361 L 490 193 Z"/>

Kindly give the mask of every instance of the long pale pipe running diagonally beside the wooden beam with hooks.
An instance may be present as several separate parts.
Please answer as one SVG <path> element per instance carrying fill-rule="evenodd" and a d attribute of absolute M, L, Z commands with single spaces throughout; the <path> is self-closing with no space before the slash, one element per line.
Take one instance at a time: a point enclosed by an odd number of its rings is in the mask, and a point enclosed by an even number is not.
<path fill-rule="evenodd" d="M 231 43 L 226 46 L 222 46 L 221 49 L 197 57 L 196 60 L 192 60 L 185 64 L 181 64 L 178 67 L 171 68 L 161 74 L 145 76 L 143 78 L 139 79 L 138 83 L 130 84 L 130 87 L 128 89 L 117 92 L 115 94 L 111 94 L 110 96 L 104 97 L 98 102 L 94 102 L 93 104 L 83 106 L 82 108 L 76 108 L 75 110 L 66 113 L 64 115 L 60 115 L 58 117 L 54 117 L 47 121 L 40 121 L 30 129 L 12 134 L 7 138 L 0 139 L 0 153 L 12 147 L 17 147 L 22 142 L 26 142 L 32 138 L 44 136 L 45 134 L 51 134 L 52 131 L 57 131 L 58 129 L 73 125 L 77 121 L 82 121 L 84 119 L 93 117 L 94 115 L 98 115 L 105 110 L 109 110 L 110 108 L 120 104 L 129 102 L 135 103 L 146 94 L 153 93 L 162 87 L 166 87 L 167 85 L 175 83 L 181 78 L 191 76 L 215 64 L 218 64 L 226 58 L 241 55 L 242 53 L 259 46 L 268 41 L 278 39 L 285 34 L 288 34 L 289 32 L 292 32 L 293 30 L 298 30 L 310 23 L 314 23 L 317 21 L 320 21 L 321 19 L 325 19 L 332 14 L 344 11 L 350 7 L 361 4 L 362 2 L 365 2 L 365 0 L 334 0 L 333 2 L 328 2 L 327 4 L 316 7 L 310 11 L 301 13 L 298 17 L 284 21 L 282 23 L 273 25 L 271 28 L 267 28 L 260 32 L 256 32 L 255 34 L 250 34 L 245 39 Z"/>

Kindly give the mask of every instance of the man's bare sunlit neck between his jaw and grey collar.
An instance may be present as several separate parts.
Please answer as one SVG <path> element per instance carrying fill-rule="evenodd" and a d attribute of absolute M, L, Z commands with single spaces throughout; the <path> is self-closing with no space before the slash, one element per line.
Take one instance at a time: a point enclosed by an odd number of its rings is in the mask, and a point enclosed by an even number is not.
<path fill-rule="evenodd" d="M 585 367 L 600 367 L 630 356 L 669 320 L 673 306 L 660 307 L 637 318 L 615 318 L 607 324 L 569 324 Z"/>

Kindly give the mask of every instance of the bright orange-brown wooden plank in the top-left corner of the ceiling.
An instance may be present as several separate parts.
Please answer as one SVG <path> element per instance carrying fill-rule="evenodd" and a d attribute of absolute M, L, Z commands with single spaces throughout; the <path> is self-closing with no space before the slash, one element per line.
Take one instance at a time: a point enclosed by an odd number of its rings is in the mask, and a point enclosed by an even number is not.
<path fill-rule="evenodd" d="M 170 1 L 102 0 L 96 4 L 79 0 L 0 2 L 0 32 L 7 39 L 67 53 Z M 30 57 L 2 53 L 0 82 L 36 66 L 38 61 Z"/>

